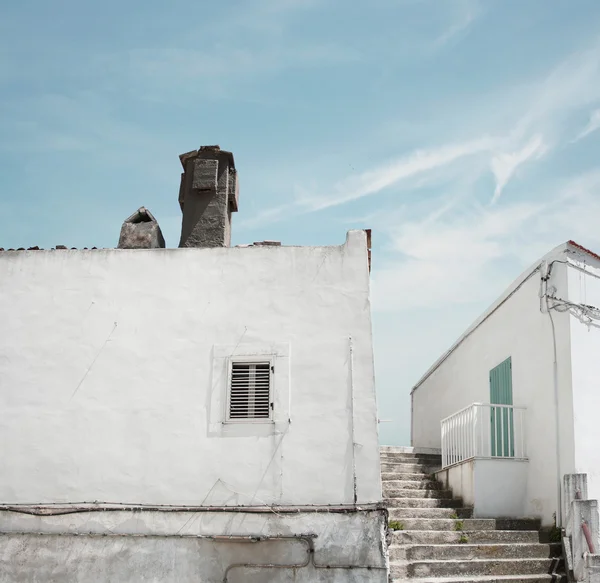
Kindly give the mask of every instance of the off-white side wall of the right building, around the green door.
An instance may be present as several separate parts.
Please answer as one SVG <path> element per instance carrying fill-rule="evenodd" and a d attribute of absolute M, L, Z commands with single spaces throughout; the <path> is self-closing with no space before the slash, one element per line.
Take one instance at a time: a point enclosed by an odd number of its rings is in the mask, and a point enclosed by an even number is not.
<path fill-rule="evenodd" d="M 553 251 L 547 260 L 561 256 Z M 564 260 L 564 257 L 563 257 Z M 526 515 L 552 524 L 558 504 L 558 475 L 573 469 L 573 423 L 569 316 L 554 313 L 558 355 L 561 468 L 557 472 L 554 348 L 550 317 L 540 311 L 540 274 L 525 272 L 458 341 L 412 395 L 412 445 L 440 447 L 440 421 L 490 399 L 489 372 L 512 357 L 513 402 L 527 408 L 529 455 Z M 529 279 L 527 279 L 529 277 Z M 566 294 L 566 268 L 555 263 L 551 284 Z"/>

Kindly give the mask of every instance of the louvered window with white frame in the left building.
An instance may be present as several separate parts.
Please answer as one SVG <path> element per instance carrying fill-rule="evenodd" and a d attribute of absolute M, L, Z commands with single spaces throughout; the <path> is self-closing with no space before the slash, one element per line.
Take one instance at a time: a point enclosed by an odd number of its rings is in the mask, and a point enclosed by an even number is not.
<path fill-rule="evenodd" d="M 233 361 L 229 385 L 229 420 L 270 419 L 271 411 L 271 363 Z"/>

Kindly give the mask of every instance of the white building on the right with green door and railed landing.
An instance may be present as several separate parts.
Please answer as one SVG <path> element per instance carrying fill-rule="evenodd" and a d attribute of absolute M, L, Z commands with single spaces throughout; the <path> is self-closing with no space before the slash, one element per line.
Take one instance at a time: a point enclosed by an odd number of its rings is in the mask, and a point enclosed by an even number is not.
<path fill-rule="evenodd" d="M 600 257 L 569 241 L 525 271 L 412 391 L 412 444 L 475 516 L 560 525 L 565 474 L 600 498 Z M 564 514 L 564 510 L 562 511 Z"/>

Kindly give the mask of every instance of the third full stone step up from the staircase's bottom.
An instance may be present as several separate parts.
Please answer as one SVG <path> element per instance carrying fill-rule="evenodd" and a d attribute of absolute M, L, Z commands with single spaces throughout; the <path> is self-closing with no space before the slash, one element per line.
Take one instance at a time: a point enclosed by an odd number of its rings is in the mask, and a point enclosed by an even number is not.
<path fill-rule="evenodd" d="M 540 535 L 535 530 L 396 530 L 392 534 L 393 545 L 439 545 L 456 544 L 466 538 L 470 544 L 487 543 L 537 543 Z"/>

